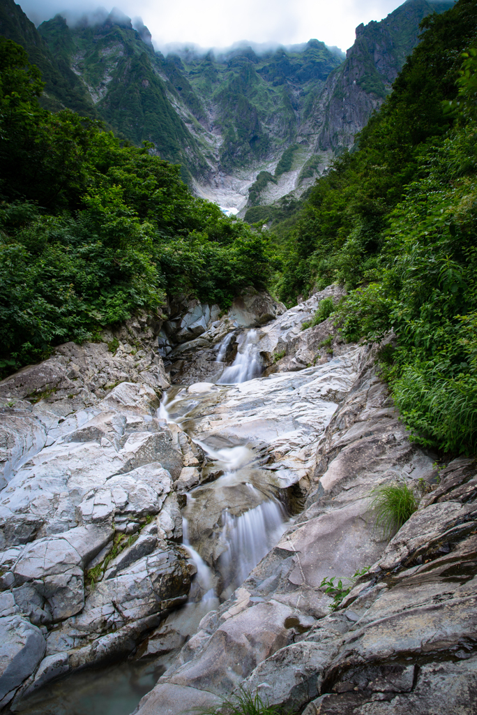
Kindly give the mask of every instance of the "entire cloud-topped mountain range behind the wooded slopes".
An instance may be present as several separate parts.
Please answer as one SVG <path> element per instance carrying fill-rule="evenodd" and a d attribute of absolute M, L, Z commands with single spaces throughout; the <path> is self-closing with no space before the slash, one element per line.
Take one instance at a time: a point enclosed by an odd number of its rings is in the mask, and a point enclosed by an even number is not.
<path fill-rule="evenodd" d="M 421 19 L 453 4 L 408 0 L 358 26 L 345 58 L 317 39 L 274 49 L 179 46 L 164 56 L 144 24 L 133 27 L 117 10 L 75 26 L 57 15 L 36 31 L 13 0 L 1 2 L 0 31 L 39 65 L 49 102 L 96 114 L 134 144 L 152 142 L 181 164 L 196 194 L 241 215 L 299 196 L 351 147 L 416 45 Z"/>

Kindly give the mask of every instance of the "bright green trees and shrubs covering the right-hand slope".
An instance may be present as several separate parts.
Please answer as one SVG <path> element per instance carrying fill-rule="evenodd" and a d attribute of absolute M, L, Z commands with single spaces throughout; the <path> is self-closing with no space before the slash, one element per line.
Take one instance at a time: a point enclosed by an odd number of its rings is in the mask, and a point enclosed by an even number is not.
<path fill-rule="evenodd" d="M 477 0 L 422 29 L 358 151 L 311 189 L 277 288 L 293 302 L 344 283 L 348 340 L 396 333 L 382 370 L 416 440 L 468 452 L 477 446 Z"/>

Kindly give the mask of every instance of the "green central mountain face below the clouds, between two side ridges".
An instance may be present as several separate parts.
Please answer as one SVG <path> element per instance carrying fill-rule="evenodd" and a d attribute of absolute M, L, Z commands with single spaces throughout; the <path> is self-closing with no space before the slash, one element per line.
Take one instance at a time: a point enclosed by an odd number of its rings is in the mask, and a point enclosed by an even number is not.
<path fill-rule="evenodd" d="M 180 57 L 169 55 L 164 69 L 179 93 L 184 92 L 185 77 L 188 95 L 192 88 L 200 107 L 215 107 L 216 123 L 224 133 L 221 164 L 231 171 L 260 162 L 278 152 L 284 142 L 293 142 L 308 92 L 322 86 L 341 61 L 323 42 L 310 40 L 263 54 L 250 46 L 218 56 L 184 50 Z M 200 119 L 190 95 L 187 101 Z"/>

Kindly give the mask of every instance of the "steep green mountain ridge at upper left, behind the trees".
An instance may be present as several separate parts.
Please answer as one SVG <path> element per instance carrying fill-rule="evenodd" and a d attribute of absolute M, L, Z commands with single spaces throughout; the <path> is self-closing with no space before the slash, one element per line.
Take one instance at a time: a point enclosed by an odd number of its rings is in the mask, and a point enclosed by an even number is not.
<path fill-rule="evenodd" d="M 166 94 L 161 59 L 131 26 L 110 15 L 102 24 L 70 29 L 57 15 L 39 26 L 57 61 L 74 66 L 96 98 L 98 116 L 136 146 L 154 144 L 162 159 L 181 164 L 186 182 L 209 170 L 201 148 Z"/>

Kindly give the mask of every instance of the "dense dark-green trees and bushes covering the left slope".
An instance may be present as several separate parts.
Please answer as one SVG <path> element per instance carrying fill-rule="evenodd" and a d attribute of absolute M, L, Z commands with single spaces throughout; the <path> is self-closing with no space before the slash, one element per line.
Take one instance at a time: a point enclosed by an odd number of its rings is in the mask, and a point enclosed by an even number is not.
<path fill-rule="evenodd" d="M 0 39 L 0 369 L 154 312 L 166 292 L 227 307 L 267 285 L 276 261 L 261 235 L 192 197 L 151 144 L 41 109 L 42 87 Z"/>

